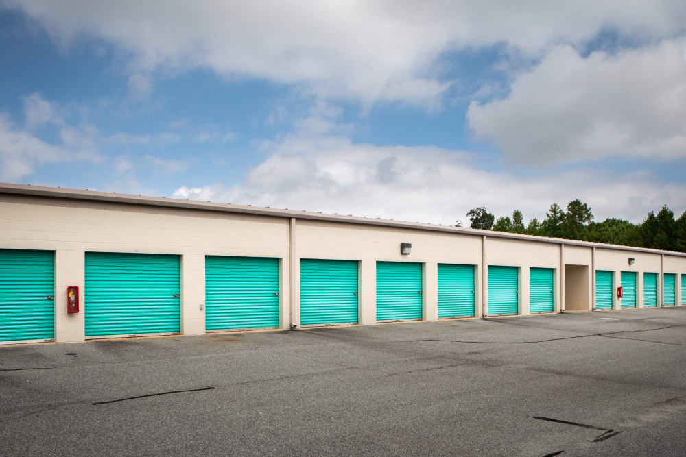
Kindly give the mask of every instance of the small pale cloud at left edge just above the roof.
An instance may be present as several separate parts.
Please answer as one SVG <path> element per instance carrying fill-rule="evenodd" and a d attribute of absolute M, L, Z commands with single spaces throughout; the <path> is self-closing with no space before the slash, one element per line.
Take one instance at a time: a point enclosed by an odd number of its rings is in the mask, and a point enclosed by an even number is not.
<path fill-rule="evenodd" d="M 16 182 L 30 175 L 36 166 L 87 160 L 100 160 L 91 149 L 70 149 L 50 145 L 31 132 L 12 125 L 6 114 L 0 113 L 0 181 Z"/>

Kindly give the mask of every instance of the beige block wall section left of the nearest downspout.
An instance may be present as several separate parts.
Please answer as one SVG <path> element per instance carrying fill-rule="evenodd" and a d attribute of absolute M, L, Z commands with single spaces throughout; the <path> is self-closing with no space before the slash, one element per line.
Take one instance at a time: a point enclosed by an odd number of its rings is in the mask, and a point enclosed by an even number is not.
<path fill-rule="evenodd" d="M 288 258 L 289 220 L 180 208 L 0 196 L 0 248 L 55 251 L 55 341 L 84 339 L 84 253 L 176 254 L 181 262 L 183 334 L 204 333 L 204 257 Z M 287 297 L 287 263 L 279 297 Z M 283 280 L 285 278 L 285 281 Z M 80 312 L 67 314 L 66 288 Z M 289 319 L 281 308 L 283 328 Z"/>

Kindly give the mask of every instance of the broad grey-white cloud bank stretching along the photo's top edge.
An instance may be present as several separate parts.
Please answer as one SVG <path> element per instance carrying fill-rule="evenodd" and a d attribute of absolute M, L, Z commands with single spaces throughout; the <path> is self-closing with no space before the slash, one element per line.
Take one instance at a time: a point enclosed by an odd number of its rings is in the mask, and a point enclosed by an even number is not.
<path fill-rule="evenodd" d="M 303 84 L 323 97 L 429 108 L 450 84 L 432 70 L 452 49 L 504 42 L 539 55 L 551 43 L 581 44 L 603 29 L 645 41 L 676 36 L 686 25 L 681 0 L 7 3 L 62 45 L 80 34 L 119 45 L 134 56 L 136 78 L 160 67 L 202 67 Z"/>

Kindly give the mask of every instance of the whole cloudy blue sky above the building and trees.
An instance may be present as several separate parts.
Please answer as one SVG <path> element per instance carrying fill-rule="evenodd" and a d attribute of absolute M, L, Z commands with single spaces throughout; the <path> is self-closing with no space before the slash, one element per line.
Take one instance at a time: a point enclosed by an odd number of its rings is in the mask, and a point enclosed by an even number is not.
<path fill-rule="evenodd" d="M 446 224 L 686 210 L 686 5 L 514 3 L 0 0 L 0 181 Z"/>

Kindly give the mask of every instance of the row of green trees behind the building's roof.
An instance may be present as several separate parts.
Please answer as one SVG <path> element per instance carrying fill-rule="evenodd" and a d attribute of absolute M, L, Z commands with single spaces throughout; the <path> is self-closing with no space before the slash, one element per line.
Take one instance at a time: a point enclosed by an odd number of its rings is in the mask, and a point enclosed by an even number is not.
<path fill-rule="evenodd" d="M 649 212 L 639 224 L 615 217 L 595 222 L 591 208 L 580 199 L 570 201 L 566 211 L 553 203 L 543 221 L 534 217 L 526 225 L 520 210 L 514 210 L 512 217 L 495 219 L 486 207 L 478 206 L 469 210 L 467 217 L 471 228 L 482 230 L 686 252 L 686 211 L 674 219 L 667 205 L 657 214 Z"/>

